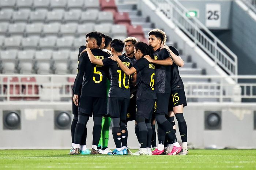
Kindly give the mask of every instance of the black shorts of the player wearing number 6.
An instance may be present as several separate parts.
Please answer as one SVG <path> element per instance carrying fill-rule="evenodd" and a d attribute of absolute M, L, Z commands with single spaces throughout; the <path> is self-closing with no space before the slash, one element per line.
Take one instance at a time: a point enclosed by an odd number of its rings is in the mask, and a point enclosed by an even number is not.
<path fill-rule="evenodd" d="M 147 120 L 152 118 L 155 99 L 140 99 L 137 100 L 136 116 L 143 116 Z"/>

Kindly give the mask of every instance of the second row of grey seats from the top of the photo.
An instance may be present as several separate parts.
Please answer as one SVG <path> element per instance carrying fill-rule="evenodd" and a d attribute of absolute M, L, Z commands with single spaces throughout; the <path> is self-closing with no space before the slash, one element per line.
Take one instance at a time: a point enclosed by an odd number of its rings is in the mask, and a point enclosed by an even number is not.
<path fill-rule="evenodd" d="M 19 10 L 4 9 L 0 11 L 0 22 L 25 23 L 113 23 L 113 13 L 98 10 Z"/>

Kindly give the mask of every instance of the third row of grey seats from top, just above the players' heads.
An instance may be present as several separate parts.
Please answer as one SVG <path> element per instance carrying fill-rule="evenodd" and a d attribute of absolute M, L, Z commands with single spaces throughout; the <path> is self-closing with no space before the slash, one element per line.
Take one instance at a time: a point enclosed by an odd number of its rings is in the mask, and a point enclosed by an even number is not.
<path fill-rule="evenodd" d="M 128 29 L 133 29 L 132 27 Z M 124 25 L 120 24 L 77 24 L 77 23 L 69 23 L 69 24 L 60 24 L 60 23 L 51 23 L 51 24 L 43 24 L 43 23 L 35 23 L 35 24 L 26 24 L 26 23 L 17 23 L 17 24 L 8 24 L 8 23 L 0 23 L 0 35 L 5 36 L 14 36 L 14 35 L 22 35 L 22 36 L 30 36 L 30 35 L 38 35 L 38 36 L 47 36 L 47 35 L 72 35 L 79 37 L 80 35 L 85 35 L 91 31 L 97 30 L 99 32 L 112 35 L 127 35 L 127 28 Z"/>

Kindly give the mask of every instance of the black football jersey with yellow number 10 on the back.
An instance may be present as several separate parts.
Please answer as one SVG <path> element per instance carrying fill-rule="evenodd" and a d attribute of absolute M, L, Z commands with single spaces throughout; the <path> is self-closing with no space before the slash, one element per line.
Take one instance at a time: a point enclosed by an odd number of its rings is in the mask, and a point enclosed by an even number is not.
<path fill-rule="evenodd" d="M 118 56 L 122 63 L 131 68 L 132 62 L 128 57 Z M 127 76 L 119 64 L 116 61 L 113 61 L 110 58 L 105 58 L 102 60 L 104 67 L 109 67 L 110 75 L 110 89 L 108 97 L 123 97 L 130 98 L 130 81 L 131 76 Z"/>

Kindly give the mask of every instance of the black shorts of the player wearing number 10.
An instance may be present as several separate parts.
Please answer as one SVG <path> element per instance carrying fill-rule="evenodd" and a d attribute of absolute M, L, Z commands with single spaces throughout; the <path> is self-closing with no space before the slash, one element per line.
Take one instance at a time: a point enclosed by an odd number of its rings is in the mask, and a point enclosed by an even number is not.
<path fill-rule="evenodd" d="M 108 115 L 111 117 L 119 117 L 120 120 L 126 119 L 127 109 L 130 99 L 123 97 L 108 98 Z"/>

